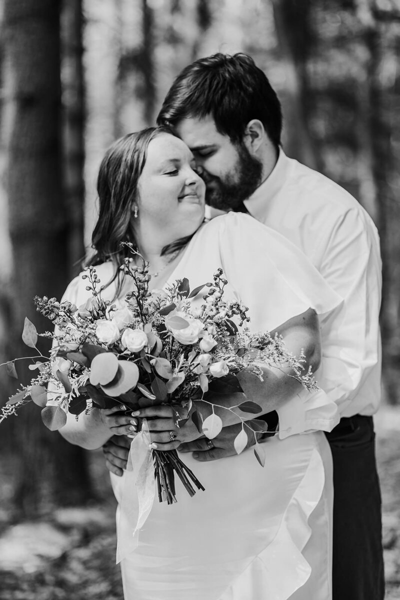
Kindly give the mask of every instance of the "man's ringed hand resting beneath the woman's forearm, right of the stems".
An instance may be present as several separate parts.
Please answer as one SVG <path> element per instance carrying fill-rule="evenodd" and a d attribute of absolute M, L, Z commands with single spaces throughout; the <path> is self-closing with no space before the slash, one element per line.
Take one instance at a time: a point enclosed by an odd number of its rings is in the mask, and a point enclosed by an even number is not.
<path fill-rule="evenodd" d="M 207 437 L 201 437 L 193 442 L 181 444 L 178 450 L 179 452 L 193 452 L 193 458 L 196 458 L 196 460 L 199 461 L 216 460 L 217 458 L 233 456 L 234 454 L 237 454 L 233 442 L 241 430 L 242 425 L 240 423 L 237 425 L 229 425 L 229 427 L 222 428 L 221 433 L 219 433 L 218 436 L 213 437 L 212 440 L 209 440 Z M 246 448 L 250 448 L 255 444 L 254 433 L 249 431 L 246 427 L 245 431 L 248 434 Z M 262 434 L 257 433 L 256 435 L 257 439 L 259 439 Z M 210 442 L 212 443 L 213 448 L 210 445 Z"/>

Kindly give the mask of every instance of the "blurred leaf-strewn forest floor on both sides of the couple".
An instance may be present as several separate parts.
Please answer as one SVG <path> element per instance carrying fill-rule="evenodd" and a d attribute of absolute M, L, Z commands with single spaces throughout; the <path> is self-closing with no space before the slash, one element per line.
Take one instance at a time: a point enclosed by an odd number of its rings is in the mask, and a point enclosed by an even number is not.
<path fill-rule="evenodd" d="M 386 600 L 400 598 L 400 408 L 375 418 L 383 497 Z M 56 509 L 46 520 L 8 526 L 0 509 L 0 600 L 122 600 L 115 565 L 115 500 L 100 452 L 92 468 L 101 503 Z M 10 497 L 10 472 L 0 461 L 2 496 Z M 106 491 L 104 491 L 106 490 Z M 160 600 L 162 600 L 160 598 Z"/>

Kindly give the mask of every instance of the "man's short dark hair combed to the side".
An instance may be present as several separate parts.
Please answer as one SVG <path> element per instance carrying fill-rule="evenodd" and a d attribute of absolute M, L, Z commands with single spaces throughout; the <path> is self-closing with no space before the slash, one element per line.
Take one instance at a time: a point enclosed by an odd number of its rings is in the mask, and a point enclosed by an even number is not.
<path fill-rule="evenodd" d="M 184 68 L 166 95 L 158 125 L 174 127 L 185 118 L 212 116 L 219 133 L 239 143 L 246 125 L 258 119 L 272 143 L 281 143 L 281 104 L 251 56 L 214 54 Z"/>

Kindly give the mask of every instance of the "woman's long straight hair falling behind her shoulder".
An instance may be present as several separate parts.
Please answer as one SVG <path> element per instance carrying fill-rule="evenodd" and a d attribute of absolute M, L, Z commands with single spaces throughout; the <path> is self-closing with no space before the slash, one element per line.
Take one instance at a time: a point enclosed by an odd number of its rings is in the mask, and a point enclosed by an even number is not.
<path fill-rule="evenodd" d="M 131 256 L 129 248 L 121 242 L 131 242 L 134 247 L 137 245 L 132 212 L 138 200 L 137 183 L 146 163 L 147 149 L 151 140 L 165 133 L 174 135 L 169 127 L 163 125 L 129 133 L 110 146 L 100 164 L 97 178 L 99 213 L 92 234 L 95 254 L 86 265 L 95 266 L 112 260 L 115 274 L 107 285 L 117 280 L 115 297 L 122 288 L 119 266 Z M 165 246 L 161 255 L 181 248 L 190 238 L 181 238 Z"/>

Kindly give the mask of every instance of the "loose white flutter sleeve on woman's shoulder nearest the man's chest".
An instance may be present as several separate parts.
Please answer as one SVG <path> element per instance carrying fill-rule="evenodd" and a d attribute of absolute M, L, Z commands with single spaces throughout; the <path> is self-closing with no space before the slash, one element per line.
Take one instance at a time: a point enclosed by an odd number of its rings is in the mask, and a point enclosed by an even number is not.
<path fill-rule="evenodd" d="M 230 286 L 249 307 L 251 328 L 271 331 L 314 308 L 329 313 L 342 302 L 305 254 L 280 233 L 241 213 L 219 227 L 219 248 Z"/>

